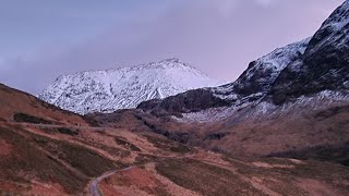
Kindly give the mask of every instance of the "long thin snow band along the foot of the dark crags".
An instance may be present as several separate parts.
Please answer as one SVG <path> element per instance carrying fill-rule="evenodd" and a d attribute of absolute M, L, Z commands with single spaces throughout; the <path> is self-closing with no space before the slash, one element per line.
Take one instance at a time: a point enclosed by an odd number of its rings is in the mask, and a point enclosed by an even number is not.
<path fill-rule="evenodd" d="M 245 102 L 240 106 L 212 108 L 200 112 L 183 113 L 183 118 L 173 118 L 180 122 L 218 122 L 227 119 L 267 119 L 288 112 L 302 113 L 320 110 L 328 106 L 349 103 L 349 91 L 323 90 L 314 96 L 302 96 L 294 102 L 275 106 L 268 101 Z M 243 111 L 244 110 L 244 111 Z"/>

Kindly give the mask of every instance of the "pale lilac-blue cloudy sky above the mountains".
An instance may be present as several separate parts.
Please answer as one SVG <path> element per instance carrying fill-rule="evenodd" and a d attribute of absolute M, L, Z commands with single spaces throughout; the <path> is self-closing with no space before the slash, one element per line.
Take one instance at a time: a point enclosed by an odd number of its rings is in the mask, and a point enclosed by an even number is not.
<path fill-rule="evenodd" d="M 312 36 L 344 0 L 0 0 L 0 83 L 39 94 L 59 75 L 179 58 L 233 82 Z"/>

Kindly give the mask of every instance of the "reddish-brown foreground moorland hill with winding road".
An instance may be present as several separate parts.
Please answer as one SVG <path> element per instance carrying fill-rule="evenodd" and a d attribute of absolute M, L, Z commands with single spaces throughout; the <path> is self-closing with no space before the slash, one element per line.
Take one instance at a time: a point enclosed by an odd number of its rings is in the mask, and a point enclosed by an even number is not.
<path fill-rule="evenodd" d="M 1 100 L 9 97 L 16 105 L 2 105 L 8 112 L 0 121 L 1 195 L 349 194 L 349 169 L 340 164 L 237 159 L 153 133 L 156 126 L 147 121 L 158 119 L 142 111 L 94 114 L 91 126 L 1 86 Z M 16 112 L 25 118 L 16 121 Z"/>

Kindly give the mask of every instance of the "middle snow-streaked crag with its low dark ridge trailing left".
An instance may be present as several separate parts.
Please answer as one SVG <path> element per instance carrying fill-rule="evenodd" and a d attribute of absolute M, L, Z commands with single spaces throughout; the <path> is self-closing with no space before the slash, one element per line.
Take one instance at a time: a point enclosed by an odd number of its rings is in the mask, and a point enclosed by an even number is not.
<path fill-rule="evenodd" d="M 300 58 L 310 38 L 278 48 L 251 62 L 240 77 L 218 87 L 189 90 L 164 100 L 142 102 L 137 108 L 153 113 L 189 113 L 217 107 L 243 107 L 262 99 L 270 89 L 279 73 Z"/>

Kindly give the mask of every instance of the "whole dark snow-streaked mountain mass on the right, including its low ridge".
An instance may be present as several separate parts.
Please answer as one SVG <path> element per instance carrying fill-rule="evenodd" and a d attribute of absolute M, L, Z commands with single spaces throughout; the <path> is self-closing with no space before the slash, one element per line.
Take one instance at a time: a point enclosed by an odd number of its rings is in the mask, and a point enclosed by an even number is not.
<path fill-rule="evenodd" d="M 323 94 L 329 95 L 326 99 L 332 99 L 330 96 L 338 95 L 337 93 L 346 98 L 342 93 L 347 94 L 348 90 L 349 1 L 347 0 L 330 14 L 314 36 L 276 49 L 251 62 L 236 82 L 219 87 L 190 90 L 164 100 L 146 101 L 139 108 L 151 110 L 153 113 L 169 112 L 177 115 L 197 113 L 213 108 L 228 108 L 229 112 L 226 112 L 227 110 L 216 112 L 228 118 L 236 111 L 246 108 L 250 108 L 250 113 L 261 113 L 256 109 L 274 108 L 265 106 L 282 107 L 289 102 L 302 102 L 299 98 L 317 100 L 309 97 L 323 97 Z"/>

